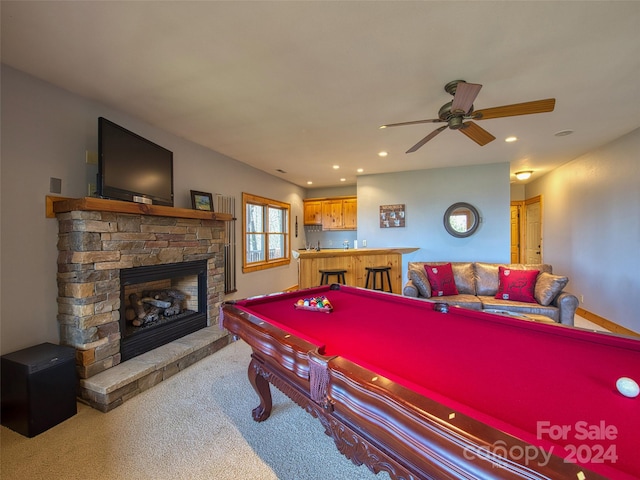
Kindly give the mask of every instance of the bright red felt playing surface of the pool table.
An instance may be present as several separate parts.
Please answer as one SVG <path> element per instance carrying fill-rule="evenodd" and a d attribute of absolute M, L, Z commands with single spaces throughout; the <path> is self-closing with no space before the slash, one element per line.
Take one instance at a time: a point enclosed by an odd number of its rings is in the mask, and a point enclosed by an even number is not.
<path fill-rule="evenodd" d="M 320 295 L 331 301 L 331 313 L 294 307 Z M 640 397 L 616 390 L 619 377 L 640 382 L 638 340 L 456 307 L 440 313 L 429 302 L 345 286 L 236 306 L 324 355 L 604 476 L 640 478 Z"/>

